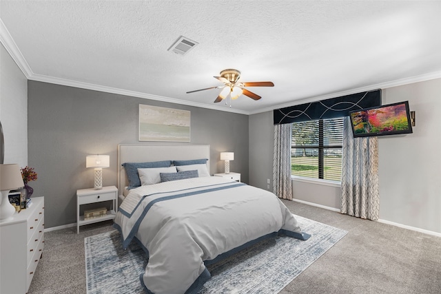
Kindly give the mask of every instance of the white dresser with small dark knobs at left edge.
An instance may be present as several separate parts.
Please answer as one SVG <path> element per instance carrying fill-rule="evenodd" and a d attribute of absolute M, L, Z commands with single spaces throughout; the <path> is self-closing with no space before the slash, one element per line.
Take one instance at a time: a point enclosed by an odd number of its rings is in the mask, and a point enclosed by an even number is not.
<path fill-rule="evenodd" d="M 44 197 L 0 220 L 0 293 L 28 292 L 44 246 Z"/>

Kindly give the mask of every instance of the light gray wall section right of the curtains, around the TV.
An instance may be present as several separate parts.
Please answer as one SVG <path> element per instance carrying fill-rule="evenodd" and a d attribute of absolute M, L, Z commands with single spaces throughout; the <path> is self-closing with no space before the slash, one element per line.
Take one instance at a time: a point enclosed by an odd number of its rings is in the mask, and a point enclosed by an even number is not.
<path fill-rule="evenodd" d="M 409 101 L 413 134 L 379 138 L 380 218 L 441 233 L 441 78 L 382 90 Z"/>

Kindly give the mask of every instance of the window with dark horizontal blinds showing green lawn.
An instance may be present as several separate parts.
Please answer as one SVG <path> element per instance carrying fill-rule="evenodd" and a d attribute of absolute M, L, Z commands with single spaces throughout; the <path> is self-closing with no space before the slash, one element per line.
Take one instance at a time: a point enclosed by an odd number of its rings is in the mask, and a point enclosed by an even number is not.
<path fill-rule="evenodd" d="M 343 118 L 292 123 L 291 175 L 341 180 Z"/>

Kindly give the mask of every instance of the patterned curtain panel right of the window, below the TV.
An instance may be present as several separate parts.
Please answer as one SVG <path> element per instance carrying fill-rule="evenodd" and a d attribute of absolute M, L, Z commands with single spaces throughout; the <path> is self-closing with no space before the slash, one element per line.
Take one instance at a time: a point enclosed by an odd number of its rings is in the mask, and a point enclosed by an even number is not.
<path fill-rule="evenodd" d="M 343 125 L 341 213 L 378 220 L 378 138 L 353 138 L 349 116 Z"/>

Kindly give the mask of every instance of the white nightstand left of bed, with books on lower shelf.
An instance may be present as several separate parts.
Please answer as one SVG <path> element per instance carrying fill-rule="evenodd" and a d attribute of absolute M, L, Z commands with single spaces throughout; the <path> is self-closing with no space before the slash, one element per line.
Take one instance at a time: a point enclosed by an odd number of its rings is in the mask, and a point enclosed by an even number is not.
<path fill-rule="evenodd" d="M 96 202 L 112 201 L 112 209 L 107 211 L 105 216 L 85 220 L 80 216 L 80 206 Z M 113 220 L 116 217 L 116 201 L 118 201 L 118 189 L 115 186 L 103 187 L 95 190 L 81 189 L 76 190 L 76 233 L 80 232 L 80 226 L 92 224 L 94 222 L 103 222 L 104 220 Z"/>

